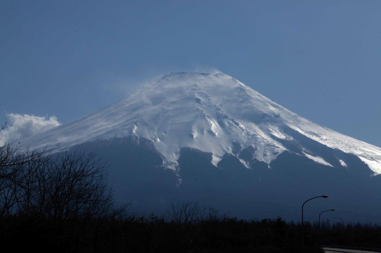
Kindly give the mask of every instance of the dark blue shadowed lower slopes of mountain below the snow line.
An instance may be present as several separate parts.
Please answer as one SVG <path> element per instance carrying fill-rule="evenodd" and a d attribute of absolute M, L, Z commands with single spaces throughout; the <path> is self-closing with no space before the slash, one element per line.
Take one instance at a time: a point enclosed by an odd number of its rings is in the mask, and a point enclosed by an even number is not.
<path fill-rule="evenodd" d="M 114 185 L 115 197 L 133 201 L 132 209 L 137 212 L 160 215 L 170 202 L 186 199 L 239 218 L 281 215 L 286 220 L 299 220 L 304 200 L 328 194 L 328 199 L 306 205 L 307 220 L 317 220 L 321 210 L 335 208 L 348 221 L 381 221 L 381 204 L 375 201 L 381 190 L 380 176 L 370 176 L 372 171 L 355 155 L 288 131 L 301 146 L 319 150 L 320 157 L 334 167 L 300 155 L 302 150 L 297 146 L 281 153 L 269 166 L 252 160 L 253 150 L 242 150 L 238 157 L 247 161 L 250 169 L 232 154 L 226 154 L 216 167 L 211 153 L 182 148 L 177 171 L 165 169 L 162 156 L 143 138 L 88 142 L 77 148 L 94 151 L 109 161 L 109 182 Z"/>

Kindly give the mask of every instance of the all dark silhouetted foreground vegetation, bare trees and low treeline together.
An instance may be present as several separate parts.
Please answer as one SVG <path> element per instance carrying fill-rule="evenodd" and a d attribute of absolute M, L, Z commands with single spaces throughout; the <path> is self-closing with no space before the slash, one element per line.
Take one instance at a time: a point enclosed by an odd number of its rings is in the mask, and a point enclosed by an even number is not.
<path fill-rule="evenodd" d="M 0 249 L 42 252 L 300 252 L 301 225 L 238 220 L 178 201 L 158 218 L 114 202 L 107 166 L 94 153 L 51 155 L 0 147 Z M 381 227 L 348 224 L 347 245 L 380 248 Z M 323 244 L 341 245 L 341 224 L 322 224 Z M 322 252 L 306 223 L 306 252 Z"/>

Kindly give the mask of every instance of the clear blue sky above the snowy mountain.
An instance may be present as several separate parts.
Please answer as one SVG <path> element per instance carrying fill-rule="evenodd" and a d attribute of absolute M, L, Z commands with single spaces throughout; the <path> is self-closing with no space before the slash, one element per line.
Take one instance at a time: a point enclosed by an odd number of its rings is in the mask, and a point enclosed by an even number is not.
<path fill-rule="evenodd" d="M 381 146 L 380 9 L 380 1 L 2 1 L 0 120 L 68 122 L 160 75 L 216 68 Z"/>

